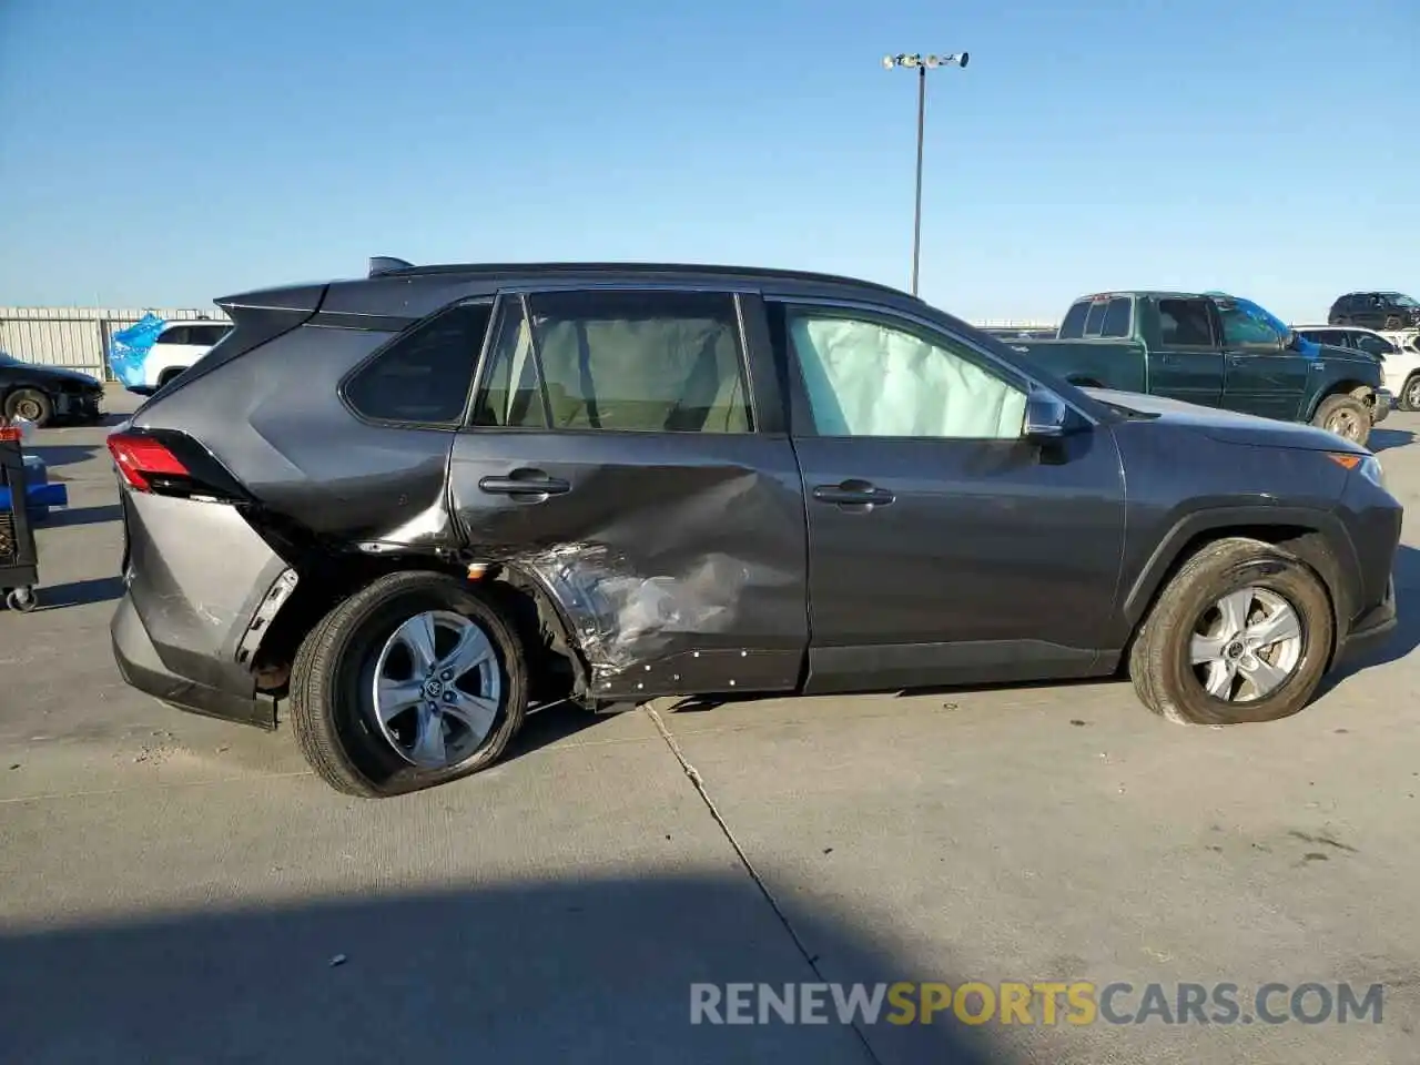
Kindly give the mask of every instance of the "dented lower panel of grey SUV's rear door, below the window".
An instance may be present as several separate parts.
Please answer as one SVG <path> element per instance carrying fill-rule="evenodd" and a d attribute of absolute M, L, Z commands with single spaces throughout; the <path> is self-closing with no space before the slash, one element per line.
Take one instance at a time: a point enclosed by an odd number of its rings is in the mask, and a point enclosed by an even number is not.
<path fill-rule="evenodd" d="M 524 498 L 479 487 L 515 471 L 571 487 Z M 798 683 L 807 532 L 787 439 L 470 429 L 450 496 L 471 559 L 514 565 L 557 599 L 594 697 Z"/>

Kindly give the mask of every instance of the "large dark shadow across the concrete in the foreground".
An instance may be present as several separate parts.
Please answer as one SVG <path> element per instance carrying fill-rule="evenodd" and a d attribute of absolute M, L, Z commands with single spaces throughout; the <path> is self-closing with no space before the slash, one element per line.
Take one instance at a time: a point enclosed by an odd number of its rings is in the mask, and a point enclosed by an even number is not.
<path fill-rule="evenodd" d="M 30 1065 L 1018 1059 L 993 1047 L 990 1025 L 967 1028 L 950 1012 L 930 1025 L 890 1024 L 886 1000 L 876 1024 L 839 1024 L 826 988 L 819 1010 L 829 1024 L 785 1024 L 774 1012 L 767 1024 L 692 1024 L 692 984 L 719 985 L 724 1017 L 731 981 L 782 995 L 785 984 L 956 987 L 974 976 L 919 971 L 809 900 L 781 907 L 792 936 L 747 875 L 648 873 L 11 930 L 0 934 L 6 1056 Z M 751 998 L 740 1017 L 758 1012 Z"/>

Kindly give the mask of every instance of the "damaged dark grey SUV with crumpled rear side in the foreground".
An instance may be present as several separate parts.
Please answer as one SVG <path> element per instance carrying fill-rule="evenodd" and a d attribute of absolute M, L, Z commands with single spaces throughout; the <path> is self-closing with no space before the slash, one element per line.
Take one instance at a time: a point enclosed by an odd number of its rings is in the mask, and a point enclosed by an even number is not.
<path fill-rule="evenodd" d="M 1396 623 L 1365 449 L 1078 389 L 888 287 L 375 260 L 217 302 L 234 334 L 108 440 L 114 649 L 178 707 L 284 700 L 349 794 L 561 699 L 1127 665 L 1170 720 L 1261 721 Z"/>

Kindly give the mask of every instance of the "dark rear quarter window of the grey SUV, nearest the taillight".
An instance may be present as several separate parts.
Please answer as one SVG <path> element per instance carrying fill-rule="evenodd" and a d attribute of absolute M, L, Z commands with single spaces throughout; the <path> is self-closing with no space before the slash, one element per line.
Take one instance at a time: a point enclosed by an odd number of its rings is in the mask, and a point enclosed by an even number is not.
<path fill-rule="evenodd" d="M 463 304 L 420 322 L 346 382 L 346 402 L 381 422 L 459 422 L 488 314 L 487 304 Z"/>

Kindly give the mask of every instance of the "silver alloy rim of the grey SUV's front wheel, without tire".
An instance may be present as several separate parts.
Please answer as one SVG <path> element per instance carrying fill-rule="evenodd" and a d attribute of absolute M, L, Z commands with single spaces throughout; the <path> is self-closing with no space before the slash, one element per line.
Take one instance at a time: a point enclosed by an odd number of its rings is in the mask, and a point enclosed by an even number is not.
<path fill-rule="evenodd" d="M 1224 595 L 1198 618 L 1189 662 L 1203 689 L 1227 703 L 1250 703 L 1277 692 L 1302 660 L 1302 621 L 1268 588 Z"/>

